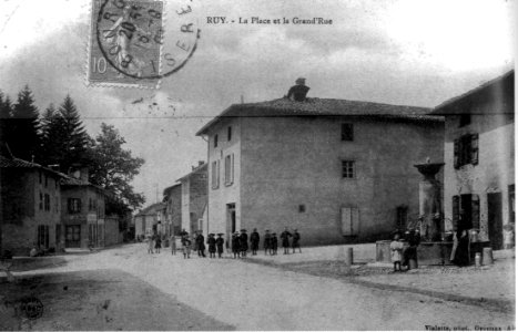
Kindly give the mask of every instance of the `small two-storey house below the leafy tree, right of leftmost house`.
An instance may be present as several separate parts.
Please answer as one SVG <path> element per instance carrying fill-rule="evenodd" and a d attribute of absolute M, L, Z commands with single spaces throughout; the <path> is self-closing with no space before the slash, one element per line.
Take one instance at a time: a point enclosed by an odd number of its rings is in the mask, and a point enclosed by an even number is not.
<path fill-rule="evenodd" d="M 88 168 L 81 167 L 61 180 L 61 221 L 65 248 L 105 246 L 106 194 L 88 178 Z"/>

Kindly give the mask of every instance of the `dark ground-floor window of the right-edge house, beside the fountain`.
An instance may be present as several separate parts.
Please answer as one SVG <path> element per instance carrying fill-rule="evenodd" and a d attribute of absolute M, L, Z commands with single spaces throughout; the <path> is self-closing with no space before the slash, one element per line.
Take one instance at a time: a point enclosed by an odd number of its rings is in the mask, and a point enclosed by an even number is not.
<path fill-rule="evenodd" d="M 480 200 L 478 195 L 465 194 L 453 197 L 454 229 L 479 228 Z"/>

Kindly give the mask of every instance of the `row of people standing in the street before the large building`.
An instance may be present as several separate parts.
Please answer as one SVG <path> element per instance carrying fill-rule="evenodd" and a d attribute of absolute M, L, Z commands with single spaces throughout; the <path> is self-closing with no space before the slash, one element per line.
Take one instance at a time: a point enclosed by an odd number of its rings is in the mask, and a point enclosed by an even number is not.
<path fill-rule="evenodd" d="M 183 229 L 180 234 L 180 243 L 183 257 L 185 259 L 191 258 L 192 250 L 197 251 L 199 257 L 206 257 L 205 250 L 209 247 L 210 258 L 216 258 L 216 253 L 219 258 L 222 258 L 225 245 L 225 239 L 223 238 L 223 236 L 224 234 L 222 232 L 217 234 L 217 237 L 215 234 L 209 234 L 207 239 L 205 241 L 205 237 L 203 236 L 202 231 L 194 231 L 194 235 L 191 237 L 189 232 L 185 231 L 185 229 Z M 175 237 L 174 235 L 170 238 L 172 255 L 176 255 L 176 238 L 177 237 Z M 288 255 L 290 249 L 293 249 L 293 253 L 295 253 L 296 249 L 298 249 L 298 252 L 302 252 L 301 234 L 296 229 L 294 229 L 292 234 L 286 227 L 281 234 L 280 238 L 284 248 L 284 255 Z M 160 253 L 160 248 L 162 247 L 161 237 L 159 235 L 149 236 L 148 241 L 148 252 Z M 248 241 L 252 256 L 256 256 L 261 242 L 261 236 L 257 232 L 256 228 L 254 228 L 254 230 L 250 235 L 250 239 L 246 229 L 242 229 L 241 232 L 234 232 L 231 238 L 231 243 L 227 243 L 226 247 L 230 247 L 234 258 L 244 258 L 248 252 Z M 275 232 L 270 232 L 270 229 L 266 229 L 264 234 L 263 246 L 264 255 L 277 255 L 277 235 Z"/>

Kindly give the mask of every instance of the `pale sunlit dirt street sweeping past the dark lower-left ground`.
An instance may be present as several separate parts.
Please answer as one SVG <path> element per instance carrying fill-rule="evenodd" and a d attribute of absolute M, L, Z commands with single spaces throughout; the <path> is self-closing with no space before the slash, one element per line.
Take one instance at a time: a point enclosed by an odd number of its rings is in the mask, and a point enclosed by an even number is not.
<path fill-rule="evenodd" d="M 291 257 L 301 259 L 303 256 Z M 184 260 L 180 255 L 172 256 L 166 249 L 160 255 L 148 255 L 144 243 L 95 253 L 64 256 L 64 259 L 67 263 L 59 267 L 16 276 L 22 278 L 33 273 L 78 271 L 112 276 L 111 271 L 118 270 L 122 273 L 115 273 L 113 278 L 122 278 L 123 284 L 124 276 L 136 277 L 179 303 L 217 320 L 220 324 L 214 326 L 217 329 L 426 330 L 426 325 L 431 325 L 471 330 L 479 325 L 505 330 L 514 324 L 514 317 L 509 311 L 501 312 L 495 308 L 486 309 L 483 305 L 453 302 L 399 289 L 392 291 L 389 287 L 370 288 L 252 261 L 201 259 L 197 256 Z M 120 291 L 138 293 L 138 289 L 125 288 Z M 101 297 L 116 302 L 113 292 L 105 292 Z M 150 315 L 154 310 L 167 312 L 167 308 L 158 309 L 161 305 L 156 304 L 154 301 L 142 303 L 140 310 Z M 113 319 L 118 318 L 112 317 L 111 320 Z M 119 324 L 122 329 L 134 326 L 131 317 L 124 318 Z M 225 324 L 227 328 L 224 328 Z M 167 326 L 165 329 L 179 329 L 174 323 Z M 199 329 L 211 328 L 202 325 Z"/>

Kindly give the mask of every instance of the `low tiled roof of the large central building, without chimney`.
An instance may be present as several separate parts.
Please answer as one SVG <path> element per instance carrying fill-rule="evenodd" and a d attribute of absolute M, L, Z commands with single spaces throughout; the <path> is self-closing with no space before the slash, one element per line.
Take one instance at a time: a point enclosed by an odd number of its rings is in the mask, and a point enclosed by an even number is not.
<path fill-rule="evenodd" d="M 332 98 L 307 98 L 294 102 L 278 98 L 261 103 L 233 104 L 219 116 L 204 125 L 196 135 L 207 129 L 222 117 L 275 117 L 275 116 L 362 116 L 377 118 L 406 120 L 413 122 L 441 122 L 440 116 L 427 115 L 430 108 L 389 105 Z"/>

